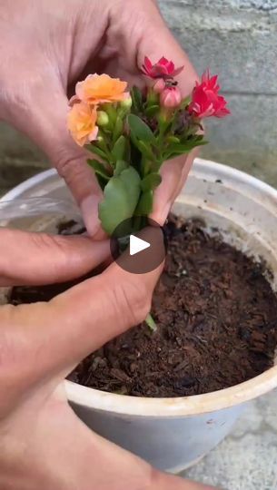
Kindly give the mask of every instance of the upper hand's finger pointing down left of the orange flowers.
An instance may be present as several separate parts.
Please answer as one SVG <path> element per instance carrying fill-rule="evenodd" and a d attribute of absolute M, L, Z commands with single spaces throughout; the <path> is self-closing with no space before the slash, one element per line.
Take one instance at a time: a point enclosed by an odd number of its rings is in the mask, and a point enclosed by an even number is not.
<path fill-rule="evenodd" d="M 72 191 L 93 236 L 100 229 L 98 203 L 102 191 L 87 165 L 88 152 L 74 142 L 67 130 L 67 113 L 64 88 L 58 78 L 46 74 L 44 83 L 37 83 L 32 93 L 24 93 L 20 111 L 9 114 L 9 119 L 45 151 Z"/>

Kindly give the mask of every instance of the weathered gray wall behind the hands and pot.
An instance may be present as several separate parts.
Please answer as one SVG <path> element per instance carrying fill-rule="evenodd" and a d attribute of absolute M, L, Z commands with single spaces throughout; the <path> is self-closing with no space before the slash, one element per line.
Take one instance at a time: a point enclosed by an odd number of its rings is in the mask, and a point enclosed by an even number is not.
<path fill-rule="evenodd" d="M 202 154 L 277 187 L 277 0 L 160 0 L 199 73 L 220 74 L 232 117 L 208 124 Z M 15 130 L 0 127 L 0 191 L 47 167 Z"/>

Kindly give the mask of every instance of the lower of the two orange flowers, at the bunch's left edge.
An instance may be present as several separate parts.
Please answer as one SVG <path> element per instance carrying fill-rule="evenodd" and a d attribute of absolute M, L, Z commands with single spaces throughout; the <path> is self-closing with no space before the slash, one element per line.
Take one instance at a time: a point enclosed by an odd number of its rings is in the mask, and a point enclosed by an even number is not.
<path fill-rule="evenodd" d="M 96 126 L 97 112 L 87 103 L 74 103 L 67 117 L 67 127 L 79 146 L 96 140 L 98 127 Z"/>

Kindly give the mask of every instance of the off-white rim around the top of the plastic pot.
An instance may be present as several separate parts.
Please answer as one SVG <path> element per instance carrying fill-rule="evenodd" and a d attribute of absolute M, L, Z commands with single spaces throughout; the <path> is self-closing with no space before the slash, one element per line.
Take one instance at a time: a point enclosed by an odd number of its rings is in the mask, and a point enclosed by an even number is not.
<path fill-rule="evenodd" d="M 222 163 L 199 158 L 195 159 L 192 173 L 197 174 L 197 171 L 202 171 L 202 173 L 205 171 L 207 180 L 210 178 L 214 181 L 214 178 L 220 175 L 225 185 L 236 189 L 239 187 L 244 193 L 251 193 L 252 199 L 261 201 L 264 207 L 276 214 L 277 191 L 270 185 Z M 12 201 L 20 197 L 25 191 L 31 190 L 38 183 L 54 176 L 55 173 L 56 171 L 51 169 L 35 175 L 7 192 L 0 202 Z M 277 366 L 239 385 L 192 397 L 129 397 L 83 387 L 68 380 L 64 381 L 64 387 L 70 402 L 94 410 L 114 412 L 130 417 L 187 417 L 233 407 L 252 398 L 260 397 L 277 387 Z"/>

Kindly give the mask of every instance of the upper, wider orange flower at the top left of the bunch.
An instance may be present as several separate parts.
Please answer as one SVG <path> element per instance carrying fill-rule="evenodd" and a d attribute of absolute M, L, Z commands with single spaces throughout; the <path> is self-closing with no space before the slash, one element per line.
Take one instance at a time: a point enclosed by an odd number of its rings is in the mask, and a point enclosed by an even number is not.
<path fill-rule="evenodd" d="M 124 92 L 126 87 L 127 83 L 119 78 L 111 78 L 105 73 L 94 73 L 88 75 L 84 82 L 76 84 L 76 96 L 79 100 L 94 105 L 121 102 L 130 96 Z"/>

